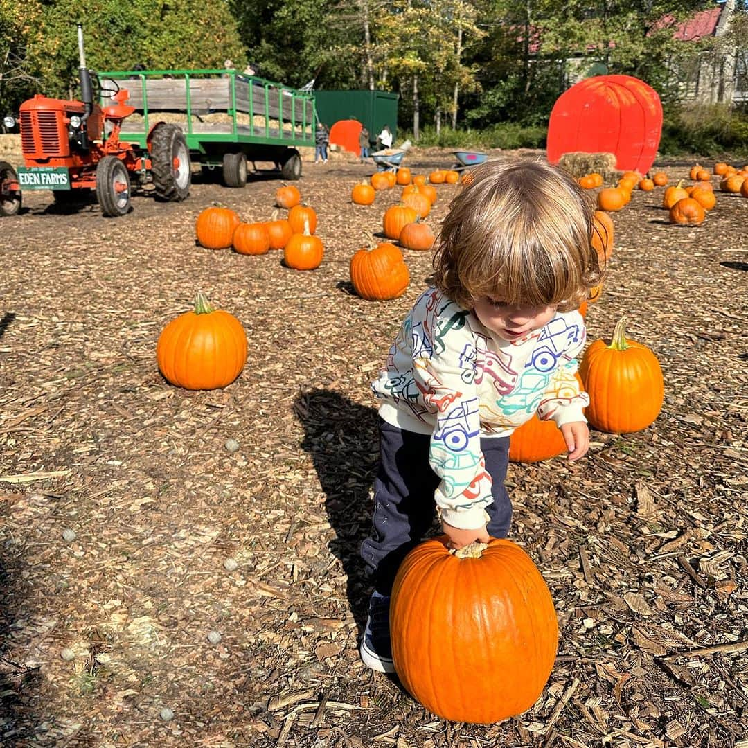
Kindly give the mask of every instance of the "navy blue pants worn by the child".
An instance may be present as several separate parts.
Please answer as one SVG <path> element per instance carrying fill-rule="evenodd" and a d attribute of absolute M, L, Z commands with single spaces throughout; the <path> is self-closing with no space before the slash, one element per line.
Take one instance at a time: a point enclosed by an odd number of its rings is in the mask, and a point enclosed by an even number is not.
<path fill-rule="evenodd" d="M 374 515 L 371 534 L 361 544 L 361 557 L 382 595 L 390 594 L 400 563 L 434 521 L 439 477 L 429 465 L 429 441 L 428 434 L 404 431 L 379 420 Z M 512 502 L 504 488 L 509 437 L 481 439 L 480 447 L 493 481 L 494 500 L 485 507 L 490 517 L 488 534 L 505 538 L 512 521 Z"/>

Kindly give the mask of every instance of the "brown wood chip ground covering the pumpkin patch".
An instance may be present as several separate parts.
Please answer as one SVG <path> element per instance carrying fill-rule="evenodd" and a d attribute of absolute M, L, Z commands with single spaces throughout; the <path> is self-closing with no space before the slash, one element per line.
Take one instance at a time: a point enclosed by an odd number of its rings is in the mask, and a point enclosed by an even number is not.
<path fill-rule="evenodd" d="M 681 228 L 661 189 L 634 191 L 614 216 L 589 339 L 625 313 L 665 405 L 643 432 L 592 432 L 579 463 L 510 467 L 511 537 L 551 587 L 559 657 L 530 711 L 474 726 L 358 660 L 368 384 L 430 255 L 406 251 L 402 298 L 352 295 L 349 258 L 399 190 L 353 206 L 372 168 L 334 156 L 298 183 L 325 243 L 313 272 L 195 246 L 213 201 L 269 218 L 275 179 L 196 177 L 186 202 L 136 197 L 116 220 L 39 192 L 0 219 L 0 744 L 745 746 L 748 199 L 719 194 Z M 404 165 L 452 163 L 414 150 Z M 657 166 L 677 179 L 690 163 Z M 432 227 L 456 189 L 438 188 Z M 224 390 L 156 367 L 198 289 L 248 334 Z"/>

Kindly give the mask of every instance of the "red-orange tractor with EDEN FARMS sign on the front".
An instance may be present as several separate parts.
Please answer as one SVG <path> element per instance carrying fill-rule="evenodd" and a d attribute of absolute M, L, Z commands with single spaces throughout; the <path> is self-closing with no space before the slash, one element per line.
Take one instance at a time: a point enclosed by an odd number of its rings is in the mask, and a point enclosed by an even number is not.
<path fill-rule="evenodd" d="M 158 122 L 150 128 L 147 148 L 120 141 L 120 127 L 135 108 L 124 104 L 128 92 L 101 88 L 86 68 L 83 28 L 78 25 L 81 101 L 49 99 L 37 93 L 20 106 L 24 166 L 17 171 L 0 162 L 0 215 L 21 208 L 25 190 L 49 189 L 55 203 L 70 205 L 96 191 L 103 215 L 125 215 L 133 187 L 149 186 L 161 200 L 184 200 L 189 194 L 189 149 L 182 130 Z M 94 92 L 96 88 L 96 92 Z M 99 105 L 96 98 L 111 101 Z M 5 124 L 14 124 L 6 117 Z"/>

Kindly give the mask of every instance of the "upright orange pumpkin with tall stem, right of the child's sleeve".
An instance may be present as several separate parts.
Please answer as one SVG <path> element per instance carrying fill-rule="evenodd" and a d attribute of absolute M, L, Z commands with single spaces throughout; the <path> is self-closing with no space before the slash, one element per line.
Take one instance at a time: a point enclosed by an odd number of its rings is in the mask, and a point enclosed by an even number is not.
<path fill-rule="evenodd" d="M 589 394 L 589 423 L 610 434 L 646 429 L 660 413 L 664 382 L 657 356 L 641 343 L 626 340 L 622 317 L 607 346 L 595 340 L 584 352 L 580 376 Z"/>

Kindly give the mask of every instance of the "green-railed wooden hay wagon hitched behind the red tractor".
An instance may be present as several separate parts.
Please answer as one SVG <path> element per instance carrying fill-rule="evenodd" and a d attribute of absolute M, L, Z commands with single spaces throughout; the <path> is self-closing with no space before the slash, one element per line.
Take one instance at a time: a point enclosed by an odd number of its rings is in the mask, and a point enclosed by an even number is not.
<path fill-rule="evenodd" d="M 147 147 L 150 128 L 174 123 L 192 162 L 208 177 L 243 187 L 254 171 L 272 165 L 285 180 L 301 177 L 300 147 L 314 147 L 312 93 L 236 70 L 124 70 L 99 73 L 102 105 L 117 88 L 135 111 L 123 120 L 123 141 Z"/>

